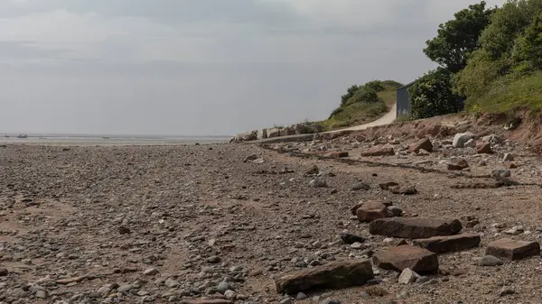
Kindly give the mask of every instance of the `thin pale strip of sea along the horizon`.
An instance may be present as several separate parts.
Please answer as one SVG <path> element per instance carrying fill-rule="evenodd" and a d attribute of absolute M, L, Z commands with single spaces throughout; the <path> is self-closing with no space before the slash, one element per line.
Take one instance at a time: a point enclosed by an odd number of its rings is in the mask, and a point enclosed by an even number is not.
<path fill-rule="evenodd" d="M 53 145 L 171 145 L 195 143 L 228 143 L 229 135 L 118 135 L 118 134 L 2 134 L 0 144 Z"/>

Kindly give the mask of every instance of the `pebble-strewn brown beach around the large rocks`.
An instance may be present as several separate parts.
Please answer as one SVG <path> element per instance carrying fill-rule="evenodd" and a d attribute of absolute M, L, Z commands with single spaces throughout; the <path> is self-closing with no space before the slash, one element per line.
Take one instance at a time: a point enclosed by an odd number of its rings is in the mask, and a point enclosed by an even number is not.
<path fill-rule="evenodd" d="M 400 137 L 353 136 L 334 141 L 256 145 L 42 146 L 0 148 L 1 303 L 168 303 L 224 298 L 235 303 L 278 303 L 274 278 L 299 268 L 369 257 L 398 239 L 370 235 L 350 207 L 380 199 L 406 216 L 466 218 L 463 231 L 481 246 L 439 255 L 441 272 L 430 284 L 401 285 L 397 272 L 375 267 L 377 286 L 314 290 L 294 303 L 540 303 L 542 259 L 496 267 L 473 263 L 502 237 L 539 241 L 542 189 L 451 189 L 470 179 L 441 162 L 464 158 L 472 175 L 503 169 L 514 152 L 520 182 L 538 182 L 540 158 L 503 142 L 494 154 L 454 149 L 435 139 L 435 152 L 409 154 Z M 397 155 L 360 158 L 378 144 Z M 290 156 L 288 152 L 348 151 L 345 163 Z M 244 162 L 256 154 L 257 160 Z M 394 168 L 404 164 L 438 171 Z M 316 165 L 327 188 L 311 188 Z M 403 196 L 378 188 L 396 181 L 415 185 Z M 369 190 L 353 190 L 359 182 Z M 523 226 L 522 232 L 506 230 Z M 341 242 L 343 231 L 367 239 L 362 248 Z M 4 272 L 5 273 L 5 272 Z M 68 281 L 65 281 L 68 280 Z M 220 285 L 221 284 L 221 285 Z M 507 290 L 507 292 L 502 292 Z M 506 293 L 506 294 L 505 294 Z M 231 292 L 227 293 L 231 296 Z"/>

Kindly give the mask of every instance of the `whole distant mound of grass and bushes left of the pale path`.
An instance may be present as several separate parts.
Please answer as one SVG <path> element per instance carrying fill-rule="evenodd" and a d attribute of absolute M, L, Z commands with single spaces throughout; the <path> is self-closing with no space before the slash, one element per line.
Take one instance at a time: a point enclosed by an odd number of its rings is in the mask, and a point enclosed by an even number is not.
<path fill-rule="evenodd" d="M 362 86 L 352 86 L 341 97 L 341 106 L 322 124 L 333 130 L 356 124 L 368 124 L 388 113 L 396 102 L 397 88 L 402 84 L 393 80 L 374 80 Z"/>

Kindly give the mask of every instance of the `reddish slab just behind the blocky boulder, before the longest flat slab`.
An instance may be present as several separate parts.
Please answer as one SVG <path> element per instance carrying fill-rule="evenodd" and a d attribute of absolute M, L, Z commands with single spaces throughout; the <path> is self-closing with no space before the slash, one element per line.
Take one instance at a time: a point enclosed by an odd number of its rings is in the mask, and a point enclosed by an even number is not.
<path fill-rule="evenodd" d="M 481 242 L 480 235 L 465 233 L 462 235 L 434 236 L 414 240 L 415 246 L 425 248 L 433 253 L 454 253 L 478 247 Z"/>

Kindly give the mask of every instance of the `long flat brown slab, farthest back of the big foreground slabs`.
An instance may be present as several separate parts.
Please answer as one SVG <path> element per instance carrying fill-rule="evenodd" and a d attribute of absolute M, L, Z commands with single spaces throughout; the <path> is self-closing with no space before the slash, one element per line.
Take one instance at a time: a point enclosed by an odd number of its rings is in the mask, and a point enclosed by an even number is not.
<path fill-rule="evenodd" d="M 457 235 L 463 226 L 458 219 L 437 218 L 382 218 L 369 224 L 371 235 L 402 238 L 429 238 L 440 235 Z"/>

